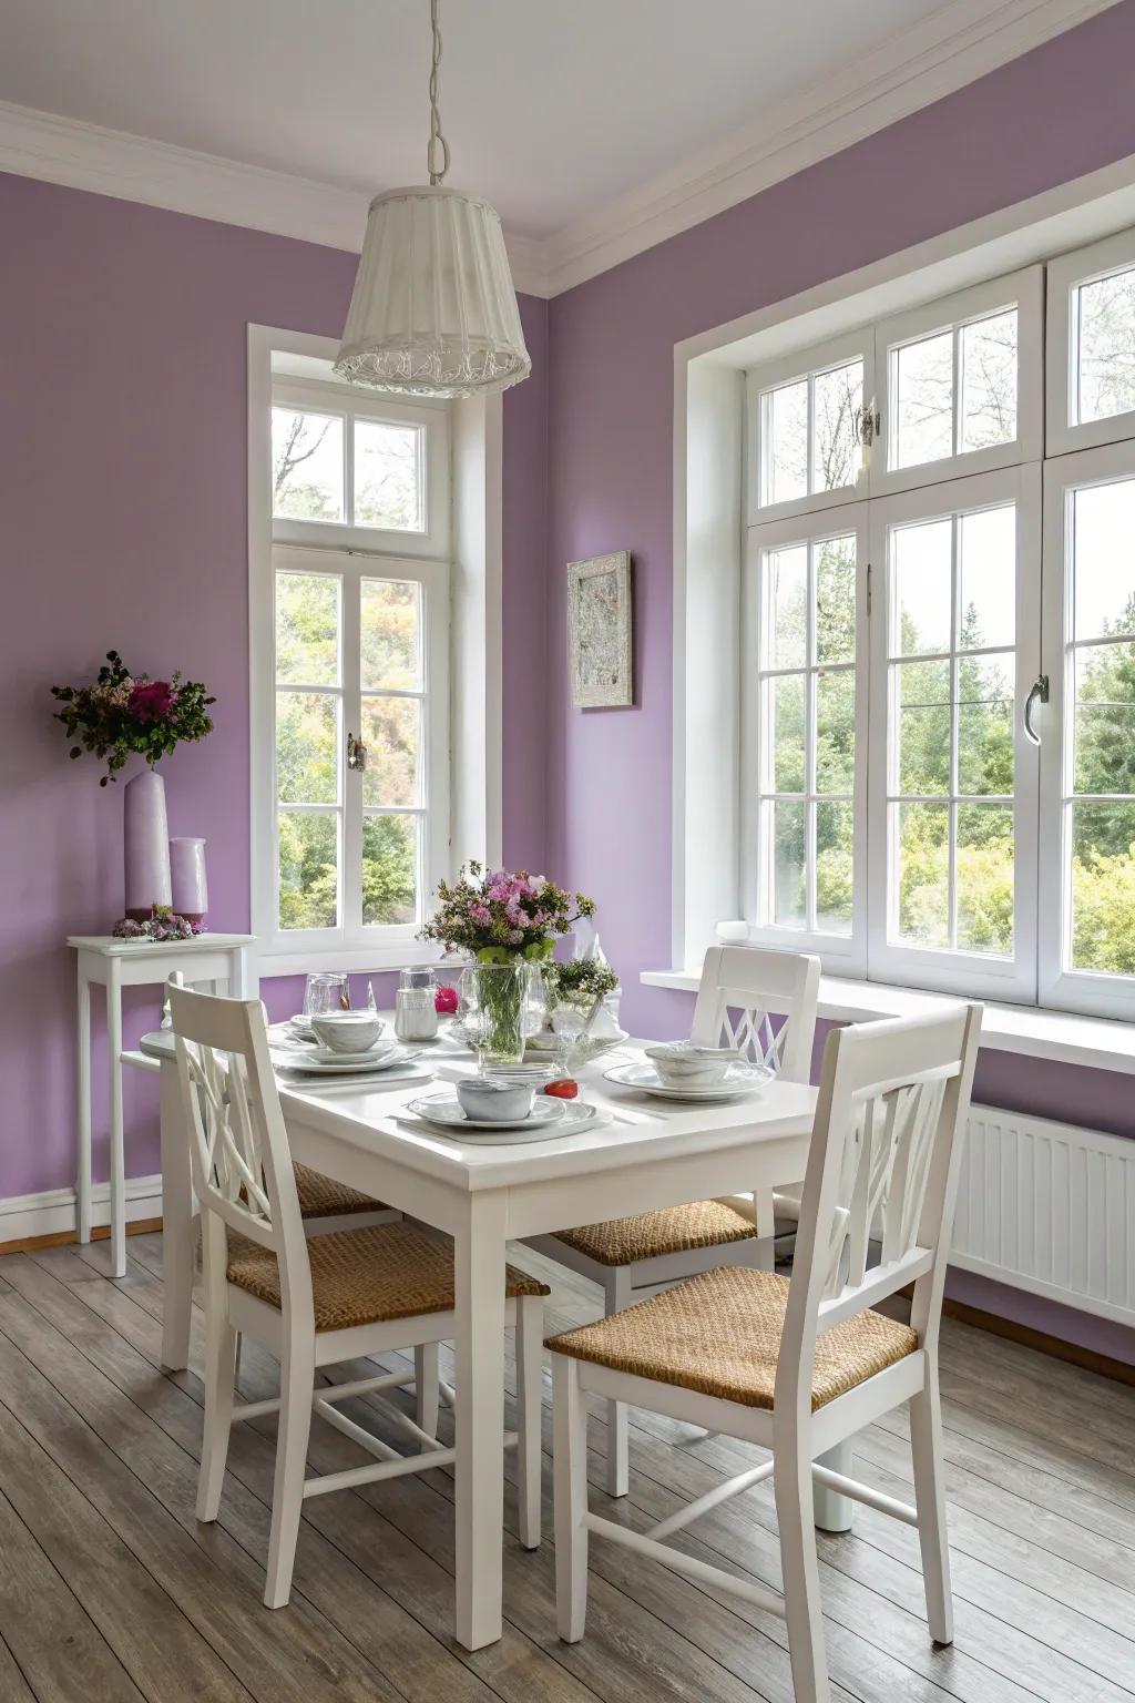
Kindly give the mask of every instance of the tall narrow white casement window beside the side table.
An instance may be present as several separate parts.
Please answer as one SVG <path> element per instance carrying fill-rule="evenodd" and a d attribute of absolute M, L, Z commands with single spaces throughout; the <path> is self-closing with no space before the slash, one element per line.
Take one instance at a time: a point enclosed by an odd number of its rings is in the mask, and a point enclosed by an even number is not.
<path fill-rule="evenodd" d="M 381 964 L 448 865 L 448 412 L 276 376 L 269 484 L 257 933 Z"/>

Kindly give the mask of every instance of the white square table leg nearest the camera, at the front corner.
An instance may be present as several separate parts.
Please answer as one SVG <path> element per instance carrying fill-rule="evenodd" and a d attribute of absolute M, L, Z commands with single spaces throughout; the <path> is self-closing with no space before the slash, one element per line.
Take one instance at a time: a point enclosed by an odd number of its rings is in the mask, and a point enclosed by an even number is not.
<path fill-rule="evenodd" d="M 504 1196 L 468 1196 L 454 1238 L 456 1637 L 466 1650 L 502 1630 L 504 1255 Z"/>

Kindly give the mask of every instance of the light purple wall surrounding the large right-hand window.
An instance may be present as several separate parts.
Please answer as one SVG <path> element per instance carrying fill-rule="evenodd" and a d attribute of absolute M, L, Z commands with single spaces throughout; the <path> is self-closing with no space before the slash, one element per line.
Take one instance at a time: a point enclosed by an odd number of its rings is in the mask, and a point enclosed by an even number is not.
<path fill-rule="evenodd" d="M 687 995 L 638 984 L 642 969 L 670 962 L 674 344 L 1135 153 L 1133 63 L 1135 0 L 1125 0 L 553 300 L 548 863 L 599 901 L 623 1012 L 638 1032 L 689 1025 Z M 573 710 L 563 564 L 611 550 L 631 550 L 635 562 L 635 707 Z M 977 1093 L 1135 1132 L 1123 1076 L 985 1054 Z M 987 1304 L 1006 1310 L 1006 1294 Z M 1086 1315 L 1067 1318 L 1074 1327 L 1050 1328 L 1092 1340 Z M 1116 1352 L 1111 1337 L 1098 1345 Z"/>

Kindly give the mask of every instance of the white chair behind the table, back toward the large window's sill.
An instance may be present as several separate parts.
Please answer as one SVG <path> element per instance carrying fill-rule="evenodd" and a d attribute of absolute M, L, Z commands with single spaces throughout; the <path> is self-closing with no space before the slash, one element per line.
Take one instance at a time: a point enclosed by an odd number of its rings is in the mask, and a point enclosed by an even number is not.
<path fill-rule="evenodd" d="M 691 1039 L 737 1046 L 788 1081 L 810 1081 L 820 960 L 764 947 L 710 947 L 701 967 Z M 781 1017 L 779 1027 L 774 1017 Z M 784 1178 L 790 1184 L 793 1178 Z M 793 1213 L 795 1216 L 795 1213 Z M 638 1213 L 582 1224 L 528 1247 L 558 1260 L 604 1293 L 604 1311 L 621 1311 L 659 1287 L 715 1265 L 774 1264 L 773 1194 L 747 1201 L 696 1201 L 662 1213 Z M 607 1494 L 626 1495 L 626 1408 L 607 1410 Z"/>

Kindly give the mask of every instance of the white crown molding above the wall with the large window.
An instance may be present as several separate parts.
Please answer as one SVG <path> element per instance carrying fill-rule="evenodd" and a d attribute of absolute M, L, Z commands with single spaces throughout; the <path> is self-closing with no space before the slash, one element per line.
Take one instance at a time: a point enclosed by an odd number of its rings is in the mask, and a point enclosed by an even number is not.
<path fill-rule="evenodd" d="M 548 295 L 747 201 L 1115 3 L 948 0 L 876 51 L 548 237 Z"/>

